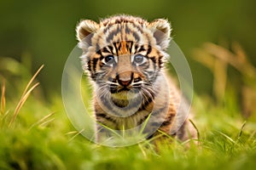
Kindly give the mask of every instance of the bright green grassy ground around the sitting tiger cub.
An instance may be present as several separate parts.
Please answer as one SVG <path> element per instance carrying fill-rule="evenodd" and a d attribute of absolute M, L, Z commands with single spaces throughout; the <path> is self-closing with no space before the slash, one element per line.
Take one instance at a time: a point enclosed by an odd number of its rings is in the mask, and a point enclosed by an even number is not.
<path fill-rule="evenodd" d="M 24 82 L 29 82 L 25 79 Z M 195 96 L 195 125 L 200 144 L 160 147 L 148 142 L 110 148 L 93 144 L 73 128 L 61 96 L 41 99 L 32 82 L 13 89 L 2 83 L 0 169 L 254 169 L 256 123 L 241 117 L 232 95 L 223 105 Z M 30 89 L 32 94 L 30 94 Z M 11 95 L 14 94 L 15 95 Z M 27 94 L 27 95 L 26 95 Z M 27 98 L 26 98 L 27 97 Z"/>

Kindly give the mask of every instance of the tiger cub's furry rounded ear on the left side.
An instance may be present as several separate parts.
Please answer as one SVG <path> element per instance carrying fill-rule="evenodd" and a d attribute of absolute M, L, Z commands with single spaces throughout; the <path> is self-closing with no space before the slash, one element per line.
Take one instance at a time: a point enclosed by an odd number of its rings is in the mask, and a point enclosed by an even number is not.
<path fill-rule="evenodd" d="M 91 38 L 92 34 L 99 29 L 99 25 L 93 20 L 82 20 L 77 26 L 77 38 L 79 42 L 82 42 L 85 37 L 89 36 Z M 92 33 L 92 34 L 91 34 Z M 91 34 L 91 36 L 90 36 Z M 86 38 L 85 41 L 90 38 Z"/>

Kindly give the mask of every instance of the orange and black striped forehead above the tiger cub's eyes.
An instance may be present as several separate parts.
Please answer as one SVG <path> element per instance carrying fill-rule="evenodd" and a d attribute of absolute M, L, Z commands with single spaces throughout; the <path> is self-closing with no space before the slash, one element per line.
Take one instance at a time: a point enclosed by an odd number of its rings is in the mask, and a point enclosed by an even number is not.
<path fill-rule="evenodd" d="M 101 49 L 109 45 L 117 46 L 119 54 L 131 53 L 129 48 L 134 44 L 155 45 L 152 33 L 143 25 L 134 23 L 119 23 L 103 26 L 92 38 L 92 45 Z M 97 50 L 96 49 L 96 50 Z"/>

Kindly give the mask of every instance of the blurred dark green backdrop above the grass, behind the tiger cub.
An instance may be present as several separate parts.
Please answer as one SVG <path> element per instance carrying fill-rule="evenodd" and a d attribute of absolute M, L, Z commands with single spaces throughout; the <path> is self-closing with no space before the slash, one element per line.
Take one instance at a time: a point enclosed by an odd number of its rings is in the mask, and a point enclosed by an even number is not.
<path fill-rule="evenodd" d="M 34 72 L 44 64 L 40 82 L 46 94 L 61 92 L 61 73 L 77 41 L 79 20 L 113 14 L 135 14 L 172 22 L 172 37 L 189 59 L 195 91 L 211 93 L 212 74 L 191 55 L 204 42 L 236 41 L 255 65 L 256 1 L 254 0 L 95 0 L 0 1 L 0 56 L 32 60 Z"/>

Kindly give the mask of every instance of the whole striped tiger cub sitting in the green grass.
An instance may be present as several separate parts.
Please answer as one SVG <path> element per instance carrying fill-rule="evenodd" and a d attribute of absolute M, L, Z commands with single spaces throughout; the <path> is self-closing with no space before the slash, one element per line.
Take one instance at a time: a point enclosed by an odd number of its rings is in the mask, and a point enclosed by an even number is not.
<path fill-rule="evenodd" d="M 181 141 L 196 138 L 188 111 L 177 112 L 186 105 L 179 104 L 181 96 L 163 71 L 171 40 L 167 20 L 115 15 L 99 23 L 82 20 L 76 31 L 84 71 L 96 87 L 98 141 L 108 128 L 143 128 L 147 139 L 162 133 Z"/>

